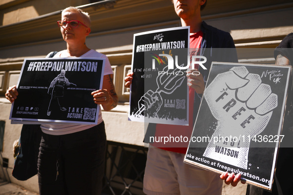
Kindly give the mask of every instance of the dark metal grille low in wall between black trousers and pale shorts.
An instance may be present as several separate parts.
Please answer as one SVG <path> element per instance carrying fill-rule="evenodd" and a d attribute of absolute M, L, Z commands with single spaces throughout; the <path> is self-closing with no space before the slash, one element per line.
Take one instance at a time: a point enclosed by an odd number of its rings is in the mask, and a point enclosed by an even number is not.
<path fill-rule="evenodd" d="M 109 142 L 102 193 L 104 195 L 143 195 L 147 148 Z"/>

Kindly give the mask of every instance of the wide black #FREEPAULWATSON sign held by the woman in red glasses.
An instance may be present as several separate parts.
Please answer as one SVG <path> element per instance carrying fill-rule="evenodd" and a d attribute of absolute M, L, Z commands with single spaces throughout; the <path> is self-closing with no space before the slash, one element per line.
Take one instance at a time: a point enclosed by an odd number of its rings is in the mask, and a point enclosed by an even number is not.
<path fill-rule="evenodd" d="M 102 88 L 104 58 L 25 59 L 10 119 L 97 124 L 91 92 Z"/>

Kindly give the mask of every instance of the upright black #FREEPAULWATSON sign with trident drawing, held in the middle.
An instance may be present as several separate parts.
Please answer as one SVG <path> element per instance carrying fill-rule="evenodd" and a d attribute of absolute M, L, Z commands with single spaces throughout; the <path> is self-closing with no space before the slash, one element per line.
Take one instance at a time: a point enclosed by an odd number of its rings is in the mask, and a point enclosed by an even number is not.
<path fill-rule="evenodd" d="M 188 47 L 189 27 L 134 35 L 130 120 L 188 124 Z"/>

